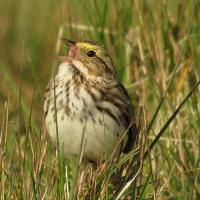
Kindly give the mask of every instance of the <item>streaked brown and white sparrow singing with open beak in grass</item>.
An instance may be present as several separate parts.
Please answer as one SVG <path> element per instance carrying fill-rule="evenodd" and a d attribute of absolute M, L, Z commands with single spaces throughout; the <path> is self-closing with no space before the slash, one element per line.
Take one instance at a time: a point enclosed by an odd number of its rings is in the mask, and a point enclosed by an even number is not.
<path fill-rule="evenodd" d="M 107 51 L 93 41 L 63 40 L 69 55 L 58 57 L 61 64 L 45 92 L 47 131 L 54 142 L 58 133 L 66 157 L 79 155 L 82 134 L 86 162 L 115 147 L 115 155 L 129 152 L 137 134 L 132 104 Z"/>

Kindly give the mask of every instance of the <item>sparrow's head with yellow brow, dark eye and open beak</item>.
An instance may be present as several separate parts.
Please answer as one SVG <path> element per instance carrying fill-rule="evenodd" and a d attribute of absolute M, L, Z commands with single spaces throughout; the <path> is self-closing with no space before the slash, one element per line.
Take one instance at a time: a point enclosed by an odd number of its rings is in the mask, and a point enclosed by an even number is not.
<path fill-rule="evenodd" d="M 63 39 L 69 46 L 72 64 L 87 79 L 111 78 L 115 69 L 106 49 L 93 41 L 74 41 Z"/>

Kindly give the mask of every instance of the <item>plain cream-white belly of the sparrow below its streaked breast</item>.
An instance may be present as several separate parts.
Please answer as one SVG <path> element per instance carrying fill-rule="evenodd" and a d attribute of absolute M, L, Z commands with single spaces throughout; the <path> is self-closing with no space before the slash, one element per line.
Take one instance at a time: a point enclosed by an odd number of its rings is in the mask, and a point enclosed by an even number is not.
<path fill-rule="evenodd" d="M 56 123 L 52 119 L 53 113 L 48 114 L 46 125 L 52 140 L 56 143 Z M 97 160 L 100 156 L 109 156 L 114 147 L 115 155 L 118 155 L 123 145 L 116 146 L 125 129 L 101 113 L 96 113 L 95 121 L 88 118 L 81 122 L 78 118 L 71 119 L 60 110 L 57 113 L 57 126 L 60 150 L 64 151 L 65 157 L 79 156 L 82 148 L 84 159 Z M 81 139 L 84 141 L 82 146 Z M 125 144 L 126 140 L 123 140 Z"/>

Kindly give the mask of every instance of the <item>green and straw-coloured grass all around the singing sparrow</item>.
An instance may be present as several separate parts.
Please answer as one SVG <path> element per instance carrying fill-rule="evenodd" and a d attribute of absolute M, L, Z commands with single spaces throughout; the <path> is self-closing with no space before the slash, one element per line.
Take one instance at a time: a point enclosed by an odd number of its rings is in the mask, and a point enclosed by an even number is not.
<path fill-rule="evenodd" d="M 176 110 L 200 80 L 199 13 L 195 0 L 0 1 L 0 198 L 200 199 L 199 87 Z M 106 46 L 141 126 L 140 145 L 87 169 L 81 189 L 78 165 L 63 189 L 66 161 L 43 127 L 54 56 L 67 53 L 61 36 Z"/>

